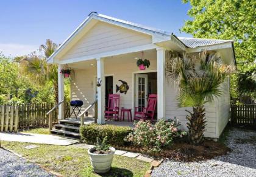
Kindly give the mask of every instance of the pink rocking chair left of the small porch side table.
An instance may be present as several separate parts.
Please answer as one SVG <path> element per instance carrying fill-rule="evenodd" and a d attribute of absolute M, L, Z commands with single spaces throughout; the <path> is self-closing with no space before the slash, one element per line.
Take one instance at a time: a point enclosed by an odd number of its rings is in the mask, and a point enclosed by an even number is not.
<path fill-rule="evenodd" d="M 110 119 L 114 118 L 119 120 L 119 94 L 109 94 L 108 95 L 108 106 L 105 107 L 105 118 Z"/>

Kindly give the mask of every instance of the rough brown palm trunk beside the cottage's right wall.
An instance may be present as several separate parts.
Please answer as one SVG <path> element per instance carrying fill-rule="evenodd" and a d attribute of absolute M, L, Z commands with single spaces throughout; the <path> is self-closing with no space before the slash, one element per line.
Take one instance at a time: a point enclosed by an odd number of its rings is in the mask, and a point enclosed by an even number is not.
<path fill-rule="evenodd" d="M 193 113 L 188 111 L 190 115 L 186 118 L 188 120 L 188 138 L 193 145 L 200 145 L 204 142 L 204 131 L 206 126 L 205 108 L 204 106 L 193 107 Z"/>

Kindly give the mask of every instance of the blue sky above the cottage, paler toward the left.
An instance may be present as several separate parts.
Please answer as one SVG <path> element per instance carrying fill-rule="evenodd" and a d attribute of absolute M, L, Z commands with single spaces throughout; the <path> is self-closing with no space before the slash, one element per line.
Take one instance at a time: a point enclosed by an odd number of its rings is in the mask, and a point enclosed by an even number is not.
<path fill-rule="evenodd" d="M 46 39 L 61 44 L 90 12 L 180 33 L 189 4 L 182 0 L 1 0 L 0 52 L 5 56 L 27 55 Z"/>

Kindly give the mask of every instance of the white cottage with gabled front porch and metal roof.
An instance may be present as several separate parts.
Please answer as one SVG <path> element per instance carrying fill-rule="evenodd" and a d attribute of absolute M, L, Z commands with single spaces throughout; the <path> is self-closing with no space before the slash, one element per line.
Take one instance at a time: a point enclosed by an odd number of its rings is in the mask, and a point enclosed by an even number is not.
<path fill-rule="evenodd" d="M 60 71 L 68 66 L 72 69 L 72 100 L 82 100 L 86 108 L 96 100 L 97 93 L 98 111 L 88 109 L 88 112 L 92 116 L 97 114 L 98 123 L 105 123 L 104 108 L 108 94 L 120 94 L 120 108 L 132 109 L 132 115 L 135 106 L 146 105 L 148 94 L 157 94 L 156 119 L 176 117 L 186 128 L 187 112 L 185 108 L 177 108 L 177 89 L 165 78 L 166 50 L 187 53 L 214 50 L 224 63 L 235 65 L 233 41 L 177 37 L 162 30 L 92 12 L 49 57 L 48 63 L 56 63 L 59 67 L 59 102 L 64 97 Z M 149 68 L 141 71 L 136 64 L 138 58 L 147 58 L 151 62 Z M 97 78 L 102 80 L 99 87 L 96 86 Z M 129 86 L 126 94 L 116 90 L 121 81 Z M 229 121 L 229 83 L 224 85 L 222 96 L 205 106 L 207 137 L 218 138 Z M 146 94 L 141 94 L 143 92 Z M 65 119 L 63 104 L 60 104 L 59 120 L 67 121 Z"/>

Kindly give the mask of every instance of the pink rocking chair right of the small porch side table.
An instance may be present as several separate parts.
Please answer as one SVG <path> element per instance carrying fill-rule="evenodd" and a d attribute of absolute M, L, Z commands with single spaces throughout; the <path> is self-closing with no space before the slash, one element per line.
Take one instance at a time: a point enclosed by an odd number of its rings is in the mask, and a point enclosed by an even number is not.
<path fill-rule="evenodd" d="M 150 94 L 148 99 L 148 105 L 146 108 L 143 108 L 142 111 L 138 111 L 138 107 L 135 107 L 134 119 L 137 119 L 137 120 L 151 119 L 151 121 L 154 121 L 154 113 L 155 113 L 156 105 L 157 105 L 157 94 Z"/>

